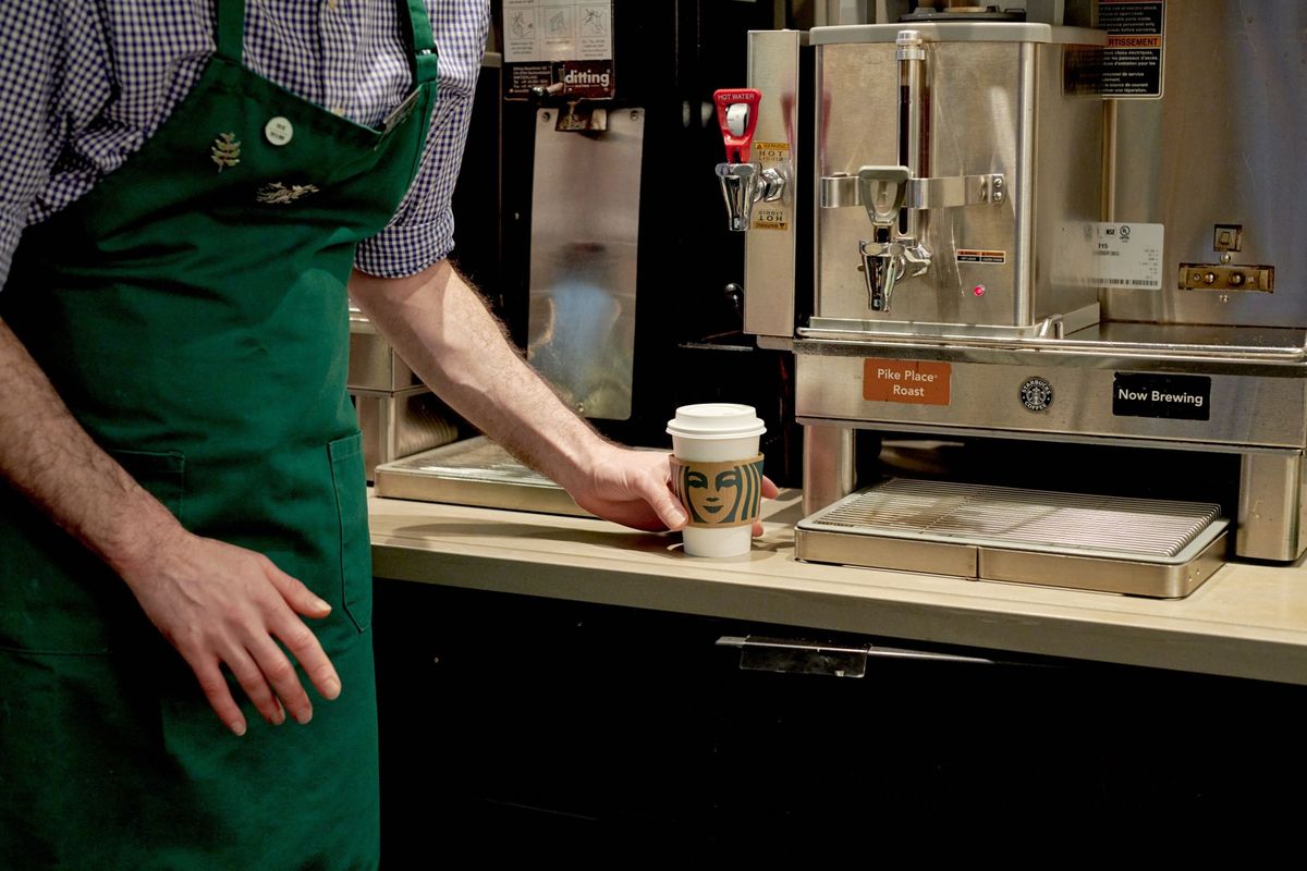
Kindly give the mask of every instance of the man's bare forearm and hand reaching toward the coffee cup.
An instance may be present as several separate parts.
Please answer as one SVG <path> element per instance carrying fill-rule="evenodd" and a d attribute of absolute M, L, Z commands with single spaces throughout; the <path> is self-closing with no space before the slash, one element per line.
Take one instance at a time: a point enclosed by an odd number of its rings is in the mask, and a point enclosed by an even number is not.
<path fill-rule="evenodd" d="M 440 398 L 514 456 L 548 470 L 582 508 L 637 529 L 685 525 L 667 486 L 667 456 L 605 441 L 576 417 L 447 260 L 408 278 L 356 270 L 349 293 Z"/>

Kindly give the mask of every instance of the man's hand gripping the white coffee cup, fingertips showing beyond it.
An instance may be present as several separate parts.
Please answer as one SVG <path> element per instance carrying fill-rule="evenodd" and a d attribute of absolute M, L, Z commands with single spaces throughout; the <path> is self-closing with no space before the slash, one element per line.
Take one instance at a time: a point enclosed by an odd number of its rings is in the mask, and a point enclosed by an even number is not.
<path fill-rule="evenodd" d="M 563 486 L 578 505 L 596 517 L 657 531 L 681 529 L 689 520 L 668 486 L 670 481 L 668 454 L 605 444 L 589 464 L 588 474 Z M 776 492 L 776 484 L 763 477 L 762 495 L 775 499 Z M 753 534 L 762 534 L 761 522 L 754 522 Z"/>

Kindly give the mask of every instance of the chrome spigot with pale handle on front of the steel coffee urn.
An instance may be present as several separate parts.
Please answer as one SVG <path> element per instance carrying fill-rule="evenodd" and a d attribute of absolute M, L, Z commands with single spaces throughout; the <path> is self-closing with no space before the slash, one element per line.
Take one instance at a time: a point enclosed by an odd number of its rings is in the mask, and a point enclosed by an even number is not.
<path fill-rule="evenodd" d="M 867 304 L 876 312 L 890 309 L 901 278 L 923 276 L 931 268 L 931 251 L 911 236 L 897 235 L 894 227 L 911 178 L 906 166 L 864 166 L 857 171 L 859 196 L 872 221 L 872 239 L 860 242 L 857 248 L 863 255 Z"/>

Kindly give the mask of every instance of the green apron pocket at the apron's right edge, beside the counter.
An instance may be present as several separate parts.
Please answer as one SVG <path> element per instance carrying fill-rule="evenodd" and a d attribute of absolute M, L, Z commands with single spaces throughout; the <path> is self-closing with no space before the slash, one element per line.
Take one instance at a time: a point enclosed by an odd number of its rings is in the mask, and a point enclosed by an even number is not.
<path fill-rule="evenodd" d="M 358 432 L 327 445 L 340 515 L 341 601 L 359 632 L 372 624 L 372 543 L 367 534 L 367 479 L 363 436 Z"/>

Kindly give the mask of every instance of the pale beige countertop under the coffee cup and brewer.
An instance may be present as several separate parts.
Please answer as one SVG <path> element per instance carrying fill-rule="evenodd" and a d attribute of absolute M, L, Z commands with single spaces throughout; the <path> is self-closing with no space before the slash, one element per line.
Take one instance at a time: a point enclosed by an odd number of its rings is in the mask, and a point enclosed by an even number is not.
<path fill-rule="evenodd" d="M 587 517 L 369 495 L 376 577 L 940 645 L 1307 684 L 1307 565 L 1227 563 L 1183 599 L 818 565 L 793 556 L 800 494 L 765 503 L 753 552 Z"/>

